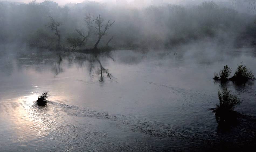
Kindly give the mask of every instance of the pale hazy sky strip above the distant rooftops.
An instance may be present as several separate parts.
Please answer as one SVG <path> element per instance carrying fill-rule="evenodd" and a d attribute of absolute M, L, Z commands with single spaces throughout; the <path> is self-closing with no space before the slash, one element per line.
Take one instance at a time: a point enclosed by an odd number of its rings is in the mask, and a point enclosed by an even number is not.
<path fill-rule="evenodd" d="M 28 3 L 32 0 L 0 0 L 0 1 L 13 1 L 13 2 L 24 2 L 24 3 Z M 44 0 L 37 0 L 37 2 L 43 2 Z M 79 3 L 79 2 L 83 2 L 84 0 L 51 0 L 54 1 L 56 3 L 58 3 L 59 5 L 64 5 L 66 3 Z M 116 0 L 89 0 L 89 1 L 97 1 L 97 2 L 106 2 L 106 1 L 113 1 L 115 2 Z M 127 2 L 131 2 L 134 0 L 126 0 Z M 144 0 L 146 1 L 151 1 L 151 0 Z M 164 0 L 164 1 L 169 1 L 169 2 L 173 2 L 173 1 L 177 1 L 177 0 Z"/>

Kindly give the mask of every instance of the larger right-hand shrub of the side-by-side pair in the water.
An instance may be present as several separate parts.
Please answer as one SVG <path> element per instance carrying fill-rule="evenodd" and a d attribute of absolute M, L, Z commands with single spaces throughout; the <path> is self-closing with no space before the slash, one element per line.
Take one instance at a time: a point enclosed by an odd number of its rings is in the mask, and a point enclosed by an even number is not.
<path fill-rule="evenodd" d="M 237 70 L 232 78 L 230 78 L 232 81 L 247 81 L 250 79 L 255 79 L 254 75 L 252 74 L 252 71 L 244 66 L 243 63 L 238 64 Z"/>

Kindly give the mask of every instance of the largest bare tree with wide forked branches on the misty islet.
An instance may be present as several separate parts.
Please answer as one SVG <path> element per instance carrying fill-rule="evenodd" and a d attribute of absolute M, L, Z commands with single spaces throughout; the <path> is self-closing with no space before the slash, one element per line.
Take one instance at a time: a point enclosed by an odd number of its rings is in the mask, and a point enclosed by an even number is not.
<path fill-rule="evenodd" d="M 107 35 L 108 33 L 106 32 L 114 23 L 116 20 L 114 20 L 112 23 L 110 23 L 110 20 L 108 20 L 108 23 L 105 24 L 105 27 L 102 29 L 102 27 L 104 26 L 103 22 L 104 22 L 104 18 L 101 17 L 101 15 L 98 15 L 96 19 L 92 20 L 92 19 L 86 19 L 86 21 L 89 22 L 94 22 L 94 26 L 89 25 L 89 27 L 93 27 L 96 29 L 95 34 L 98 36 L 98 41 L 96 42 L 96 44 L 94 45 L 94 49 L 98 49 L 98 44 L 101 41 L 101 38 L 104 35 Z"/>

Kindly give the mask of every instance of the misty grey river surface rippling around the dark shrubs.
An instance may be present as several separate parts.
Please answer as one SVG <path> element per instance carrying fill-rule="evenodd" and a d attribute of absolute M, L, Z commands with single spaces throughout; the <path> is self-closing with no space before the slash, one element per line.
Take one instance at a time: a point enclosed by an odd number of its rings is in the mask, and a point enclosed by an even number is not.
<path fill-rule="evenodd" d="M 0 151 L 213 151 L 255 148 L 256 85 L 228 82 L 243 103 L 219 123 L 214 72 L 238 63 L 256 74 L 253 49 L 97 57 L 5 49 L 0 56 Z M 12 51 L 19 52 L 18 54 Z M 229 53 L 225 53 L 229 52 Z M 111 57 L 110 57 L 111 56 Z M 113 59 L 111 59 L 113 58 Z M 101 77 L 101 66 L 103 69 Z M 109 76 L 109 77 L 108 77 Z M 46 107 L 35 104 L 50 92 Z"/>

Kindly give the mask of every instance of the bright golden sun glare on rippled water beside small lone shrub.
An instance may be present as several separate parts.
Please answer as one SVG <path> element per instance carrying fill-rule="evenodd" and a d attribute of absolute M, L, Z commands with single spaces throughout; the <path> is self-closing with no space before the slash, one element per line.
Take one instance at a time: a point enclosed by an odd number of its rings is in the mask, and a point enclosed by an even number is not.
<path fill-rule="evenodd" d="M 40 116 L 39 110 L 46 111 L 47 107 L 38 107 L 36 100 L 39 94 L 21 96 L 12 99 L 12 104 L 3 105 L 4 111 L 0 114 L 6 129 L 11 130 L 13 142 L 24 142 L 44 137 L 49 134 L 45 120 Z M 43 109 L 42 109 L 43 108 Z"/>

